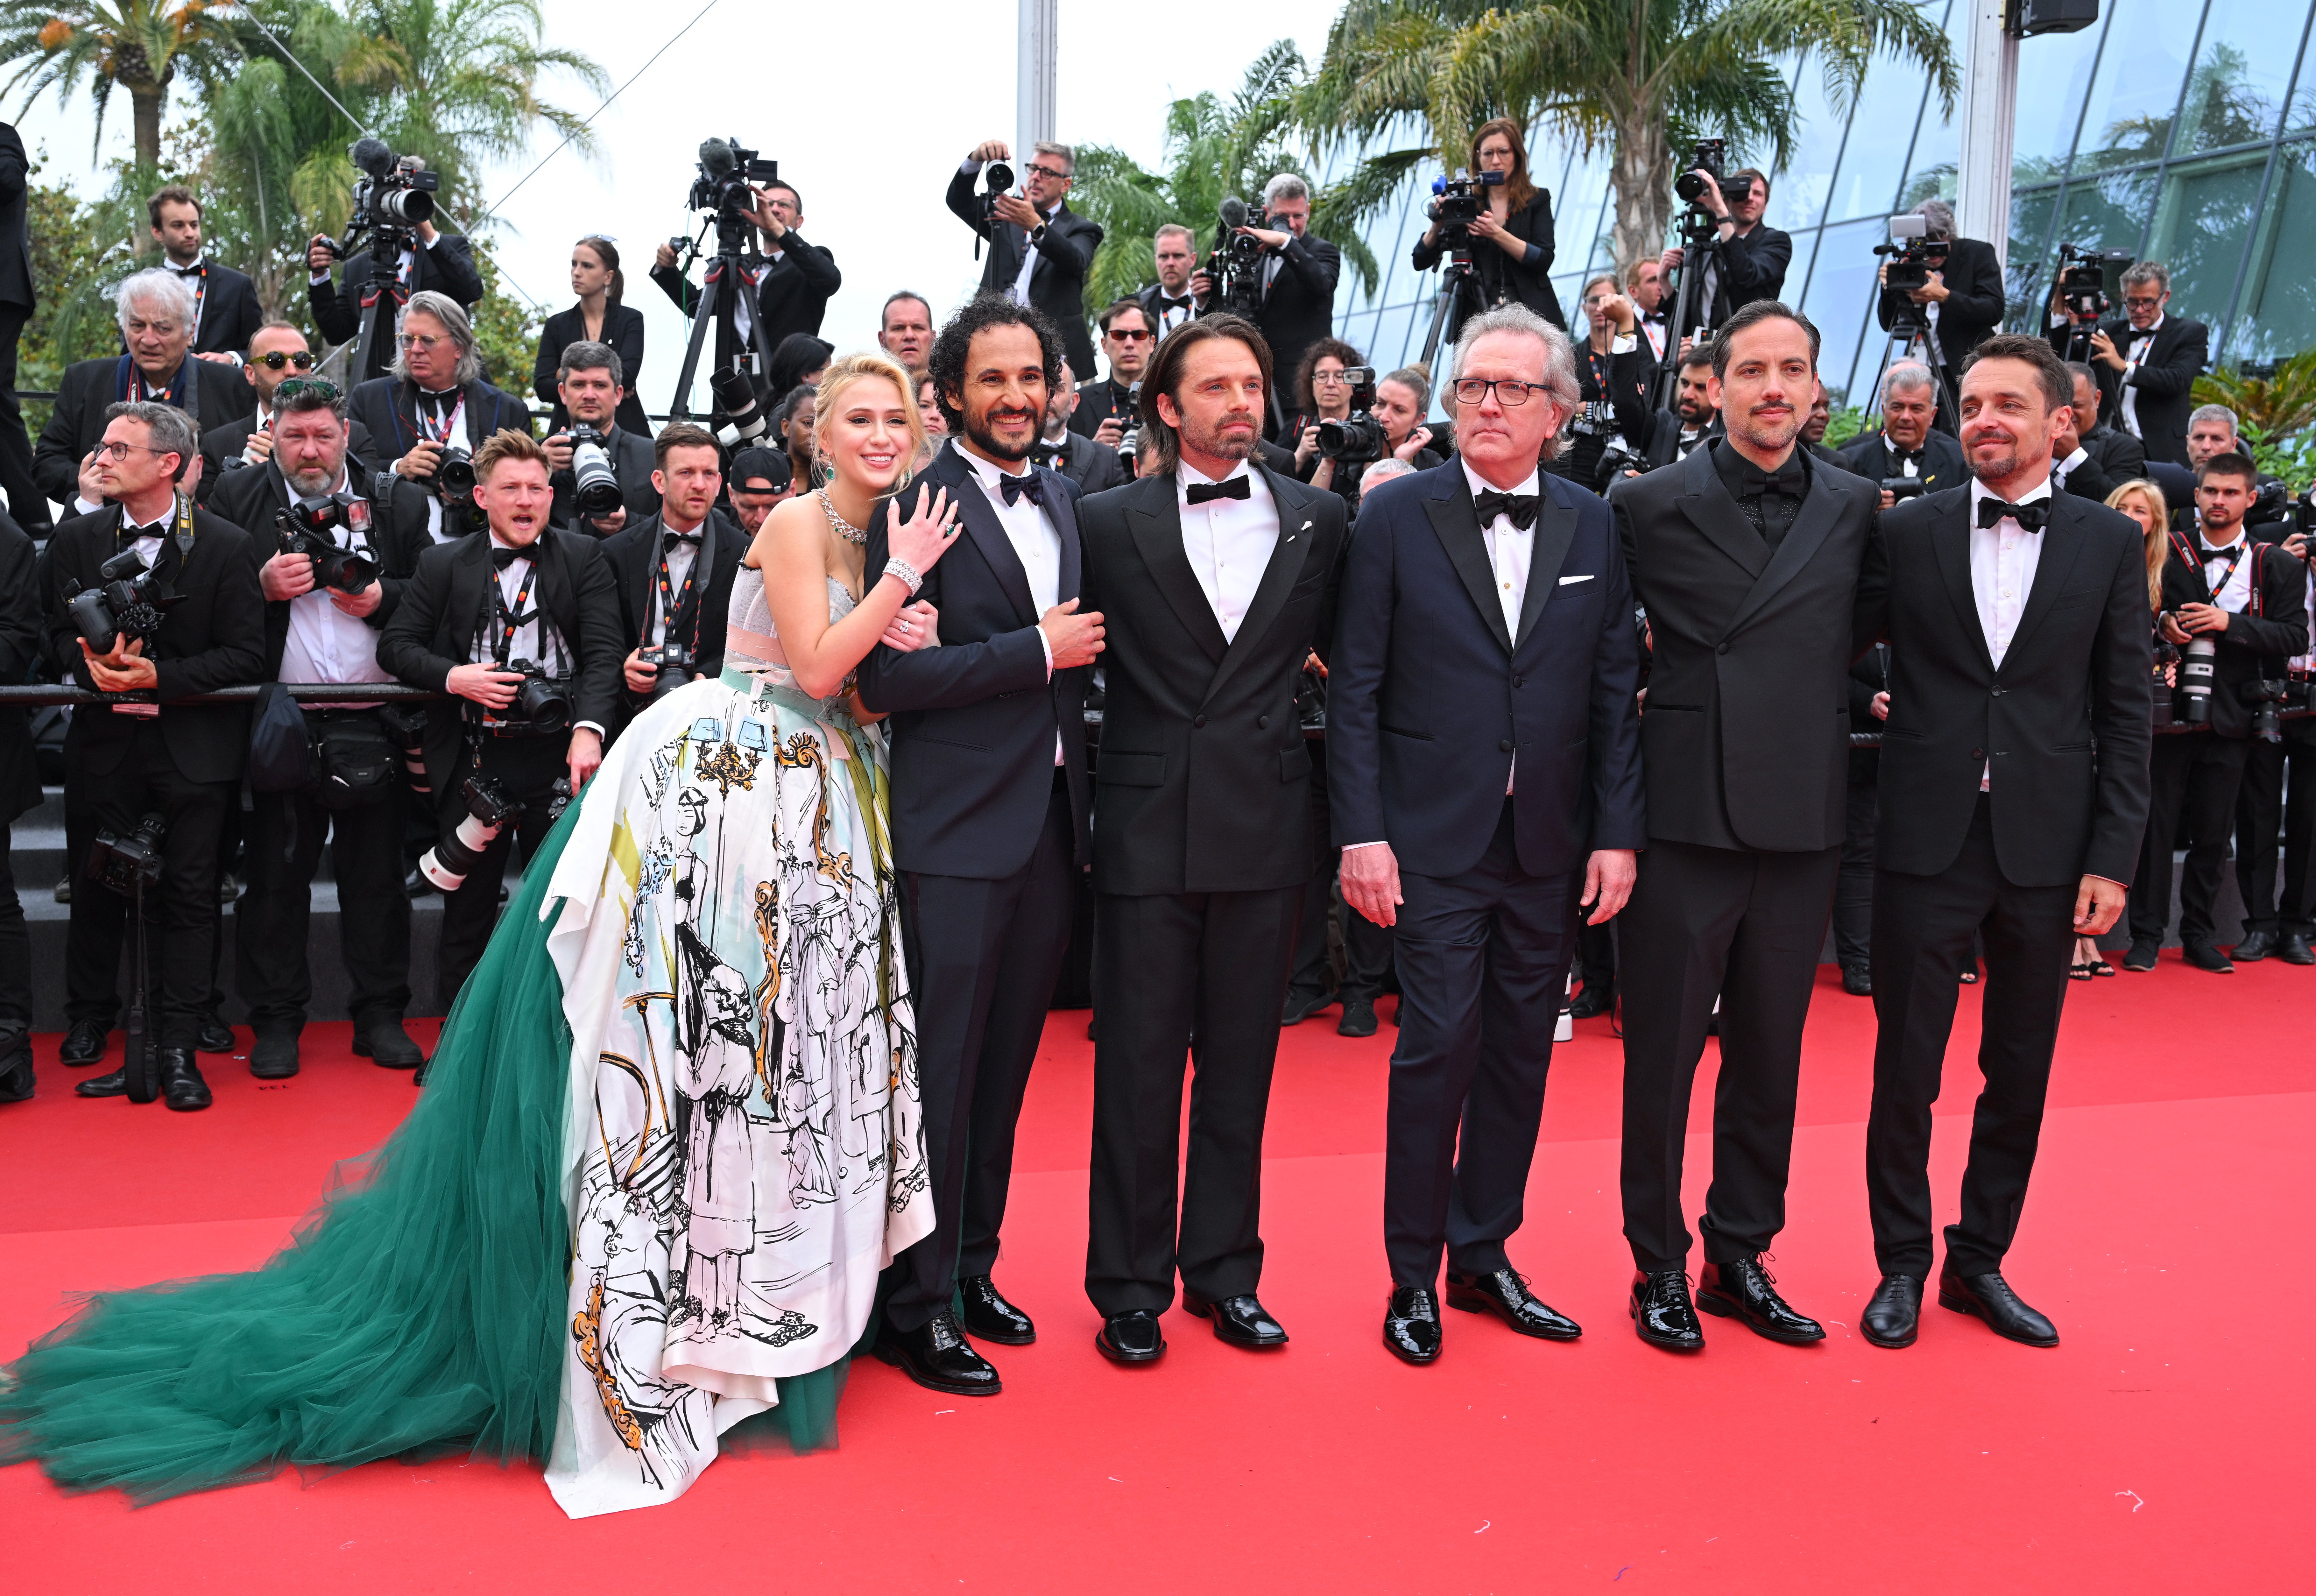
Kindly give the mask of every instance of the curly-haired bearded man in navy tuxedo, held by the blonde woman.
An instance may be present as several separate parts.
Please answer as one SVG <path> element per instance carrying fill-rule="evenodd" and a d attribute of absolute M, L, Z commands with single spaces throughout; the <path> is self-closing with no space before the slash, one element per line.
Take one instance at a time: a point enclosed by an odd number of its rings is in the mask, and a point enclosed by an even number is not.
<path fill-rule="evenodd" d="M 940 329 L 931 375 L 950 440 L 917 477 L 963 526 L 919 591 L 940 612 L 940 646 L 875 649 L 859 672 L 862 702 L 892 716 L 892 857 L 936 1221 L 894 1260 L 875 1350 L 957 1397 L 1001 1390 L 966 1332 L 1038 1339 L 991 1267 L 1014 1121 L 1091 848 L 1084 702 L 1102 616 L 1079 614 L 1075 491 L 1031 466 L 1061 343 L 1042 313 L 987 292 Z M 868 581 L 885 558 L 878 517 Z"/>

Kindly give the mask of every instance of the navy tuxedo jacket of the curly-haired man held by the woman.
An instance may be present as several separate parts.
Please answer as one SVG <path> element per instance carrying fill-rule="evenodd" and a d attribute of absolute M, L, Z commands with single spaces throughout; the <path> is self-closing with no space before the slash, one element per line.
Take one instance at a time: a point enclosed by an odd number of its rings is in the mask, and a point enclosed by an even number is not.
<path fill-rule="evenodd" d="M 1061 533 L 1056 602 L 1079 598 L 1082 549 L 1077 489 L 1035 468 L 1045 514 Z M 940 646 L 894 653 L 875 646 L 862 660 L 862 702 L 889 711 L 892 857 L 919 876 L 1005 880 L 1038 848 L 1054 797 L 1054 737 L 1070 781 L 1077 862 L 1091 848 L 1086 788 L 1086 679 L 1091 669 L 1056 669 L 1047 679 L 1038 637 L 1038 600 L 1021 556 L 973 468 L 943 442 L 931 463 L 899 493 L 908 512 L 917 491 L 947 489 L 959 533 L 924 572 L 919 598 L 940 609 Z M 885 572 L 885 510 L 868 517 L 873 584 Z M 1091 609 L 1091 605 L 1089 605 Z"/>

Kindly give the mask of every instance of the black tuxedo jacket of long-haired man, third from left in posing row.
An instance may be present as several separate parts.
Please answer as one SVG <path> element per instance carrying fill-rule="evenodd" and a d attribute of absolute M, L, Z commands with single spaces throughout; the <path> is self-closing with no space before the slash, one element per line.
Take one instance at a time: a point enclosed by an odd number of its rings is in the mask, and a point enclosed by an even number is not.
<path fill-rule="evenodd" d="M 1107 644 L 1100 892 L 1265 892 L 1311 878 L 1311 751 L 1295 686 L 1304 656 L 1332 646 L 1343 500 L 1253 470 L 1278 505 L 1278 542 L 1230 642 L 1190 572 L 1172 473 L 1079 505 L 1086 607 L 1102 612 Z"/>

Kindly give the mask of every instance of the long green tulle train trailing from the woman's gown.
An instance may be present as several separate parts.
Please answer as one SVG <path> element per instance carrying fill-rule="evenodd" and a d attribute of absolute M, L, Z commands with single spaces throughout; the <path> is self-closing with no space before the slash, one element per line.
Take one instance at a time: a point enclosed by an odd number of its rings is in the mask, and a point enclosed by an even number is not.
<path fill-rule="evenodd" d="M 577 806 L 459 994 L 417 1107 L 255 1274 L 97 1293 L 0 1374 L 0 1462 L 137 1501 L 380 1457 L 544 1462 L 570 1334 L 570 1026 L 540 903 Z M 845 1364 L 727 1438 L 834 1443 Z"/>

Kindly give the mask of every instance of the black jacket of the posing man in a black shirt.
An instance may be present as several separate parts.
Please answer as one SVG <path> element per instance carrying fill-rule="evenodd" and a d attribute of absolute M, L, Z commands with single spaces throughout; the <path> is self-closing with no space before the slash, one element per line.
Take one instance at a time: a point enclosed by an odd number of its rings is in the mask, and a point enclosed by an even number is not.
<path fill-rule="evenodd" d="M 1707 848 L 1839 848 L 1850 660 L 1874 637 L 1881 493 L 1809 461 L 1776 551 L 1725 486 L 1721 440 L 1610 489 L 1633 593 L 1649 609 L 1640 718 L 1649 836 Z"/>

